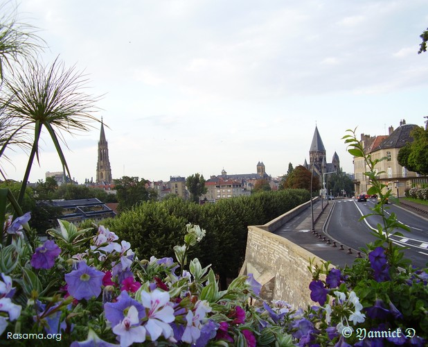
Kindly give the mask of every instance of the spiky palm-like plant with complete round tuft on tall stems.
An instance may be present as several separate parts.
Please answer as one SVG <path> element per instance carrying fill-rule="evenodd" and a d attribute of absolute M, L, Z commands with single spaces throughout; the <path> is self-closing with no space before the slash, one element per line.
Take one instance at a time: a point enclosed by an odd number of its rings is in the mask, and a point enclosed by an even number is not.
<path fill-rule="evenodd" d="M 16 71 L 14 78 L 3 79 L 3 115 L 15 130 L 0 147 L 0 158 L 10 146 L 14 137 L 33 133 L 30 141 L 30 153 L 21 192 L 17 202 L 24 198 L 26 183 L 30 176 L 34 159 L 39 161 L 39 140 L 42 129 L 50 135 L 64 173 L 71 177 L 60 144 L 66 145 L 63 134 L 75 135 L 87 131 L 93 121 L 98 121 L 92 115 L 96 111 L 97 97 L 85 92 L 87 78 L 75 67 L 66 69 L 64 63 L 56 59 L 51 66 L 45 67 L 37 61 L 28 61 Z M 1 144 L 0 144 L 1 145 Z"/>

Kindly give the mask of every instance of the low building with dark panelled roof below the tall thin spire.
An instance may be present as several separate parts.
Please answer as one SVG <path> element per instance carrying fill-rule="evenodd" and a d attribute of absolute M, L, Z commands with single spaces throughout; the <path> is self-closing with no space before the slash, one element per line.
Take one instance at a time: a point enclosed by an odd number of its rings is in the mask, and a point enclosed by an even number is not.
<path fill-rule="evenodd" d="M 109 217 L 115 217 L 116 212 L 107 207 L 98 198 L 84 198 L 78 200 L 53 200 L 52 205 L 62 208 L 60 219 L 69 221 L 76 226 L 86 219 L 96 223 Z"/>

